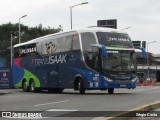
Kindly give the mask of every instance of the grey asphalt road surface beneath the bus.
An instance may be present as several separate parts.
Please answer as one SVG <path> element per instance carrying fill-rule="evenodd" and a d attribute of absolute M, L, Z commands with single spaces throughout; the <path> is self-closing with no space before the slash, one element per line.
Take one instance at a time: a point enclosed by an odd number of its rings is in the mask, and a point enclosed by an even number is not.
<path fill-rule="evenodd" d="M 62 94 L 46 91 L 30 93 L 17 89 L 9 94 L 0 95 L 0 111 L 52 111 L 47 113 L 49 116 L 54 116 L 55 111 L 61 111 L 55 113 L 56 115 L 74 111 L 128 111 L 144 104 L 160 101 L 159 91 L 160 86 L 140 86 L 133 90 L 115 89 L 112 95 L 107 91 L 99 90 L 86 91 L 86 94 L 82 95 L 78 91 L 70 89 L 64 90 Z M 94 119 L 95 115 L 92 114 L 95 113 L 90 112 L 89 114 L 91 114 L 89 115 L 90 119 Z M 74 114 L 72 115 L 74 116 Z M 56 117 L 56 119 L 62 119 L 62 117 Z M 75 118 L 72 117 L 72 119 Z M 81 119 L 81 117 L 77 119 Z"/>

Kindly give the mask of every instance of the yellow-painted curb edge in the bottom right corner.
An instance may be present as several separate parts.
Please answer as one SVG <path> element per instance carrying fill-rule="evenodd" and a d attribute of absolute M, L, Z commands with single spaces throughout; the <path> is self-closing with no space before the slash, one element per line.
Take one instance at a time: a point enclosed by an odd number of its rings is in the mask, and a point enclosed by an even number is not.
<path fill-rule="evenodd" d="M 152 110 L 157 109 L 159 107 L 160 107 L 160 101 L 157 101 L 157 102 L 153 102 L 153 103 L 149 103 L 149 104 L 144 104 L 142 106 L 139 106 L 137 108 L 131 109 L 131 110 L 126 111 L 126 112 L 115 114 L 115 115 L 113 115 L 113 117 L 104 117 L 101 120 L 117 120 L 117 119 L 118 120 L 121 120 L 121 119 L 124 120 L 124 118 L 127 118 L 127 117 L 124 117 L 124 116 L 130 116 L 130 114 L 132 114 L 133 112 L 136 112 L 136 111 L 142 111 L 142 112 L 143 111 L 152 111 Z"/>

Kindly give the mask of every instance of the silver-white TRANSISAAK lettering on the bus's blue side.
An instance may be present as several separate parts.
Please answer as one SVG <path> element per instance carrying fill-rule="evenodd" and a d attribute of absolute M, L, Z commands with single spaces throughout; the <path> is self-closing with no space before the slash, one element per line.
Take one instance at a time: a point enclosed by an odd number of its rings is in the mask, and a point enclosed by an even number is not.
<path fill-rule="evenodd" d="M 34 59 L 35 65 L 47 65 L 47 64 L 54 64 L 54 63 L 66 63 L 66 56 L 67 54 L 63 55 L 54 55 L 54 56 L 48 56 L 43 58 L 36 58 Z"/>

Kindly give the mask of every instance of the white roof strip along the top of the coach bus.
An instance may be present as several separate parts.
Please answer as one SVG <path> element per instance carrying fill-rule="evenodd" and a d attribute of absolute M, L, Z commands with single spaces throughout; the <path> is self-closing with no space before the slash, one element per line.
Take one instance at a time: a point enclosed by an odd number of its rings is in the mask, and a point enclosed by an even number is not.
<path fill-rule="evenodd" d="M 115 33 L 125 33 L 121 30 L 117 30 L 117 29 L 113 29 L 113 28 L 105 28 L 105 27 L 87 27 L 87 28 L 83 28 L 83 29 L 78 29 L 78 30 L 70 30 L 67 32 L 59 32 L 59 33 L 54 33 L 54 34 L 49 34 L 49 35 L 45 35 L 42 37 L 38 37 L 32 40 L 29 40 L 27 42 L 24 43 L 20 43 L 20 44 L 16 44 L 13 47 L 19 47 L 19 46 L 23 46 L 23 45 L 28 45 L 28 44 L 32 44 L 32 43 L 37 43 L 37 42 L 41 42 L 43 41 L 45 38 L 51 37 L 51 36 L 56 36 L 56 35 L 61 35 L 61 34 L 65 34 L 65 33 L 69 33 L 69 32 L 77 32 L 77 33 L 83 33 L 83 32 L 115 32 Z"/>

